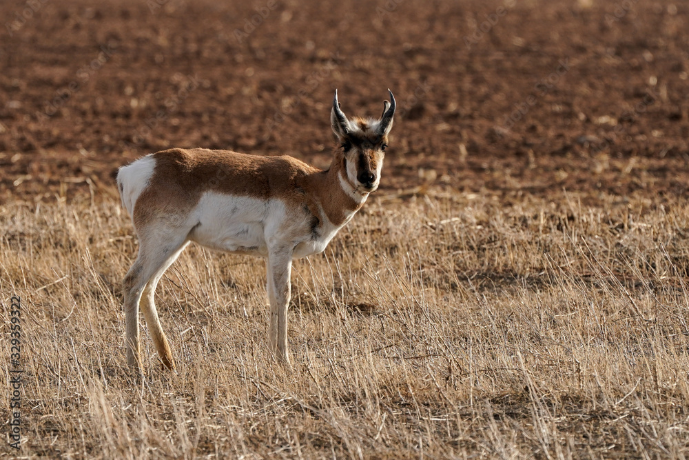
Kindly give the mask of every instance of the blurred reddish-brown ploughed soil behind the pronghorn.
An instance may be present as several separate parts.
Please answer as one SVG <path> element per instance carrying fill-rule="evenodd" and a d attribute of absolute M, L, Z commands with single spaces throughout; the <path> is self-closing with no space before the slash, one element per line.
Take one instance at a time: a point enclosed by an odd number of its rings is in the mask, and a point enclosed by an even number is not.
<path fill-rule="evenodd" d="M 689 4 L 32 0 L 0 4 L 3 202 L 115 195 L 169 147 L 320 168 L 398 114 L 383 193 L 686 196 Z"/>

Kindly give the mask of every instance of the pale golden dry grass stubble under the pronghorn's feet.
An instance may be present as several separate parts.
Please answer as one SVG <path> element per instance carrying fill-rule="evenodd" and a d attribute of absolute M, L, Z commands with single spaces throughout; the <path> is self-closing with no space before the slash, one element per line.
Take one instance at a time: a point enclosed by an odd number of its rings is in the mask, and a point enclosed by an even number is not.
<path fill-rule="evenodd" d="M 265 262 L 189 246 L 156 297 L 178 370 L 143 326 L 133 381 L 136 238 L 101 198 L 0 207 L 1 350 L 18 294 L 26 371 L 4 457 L 684 458 L 679 199 L 381 192 L 295 263 L 291 370 L 267 352 Z"/>

